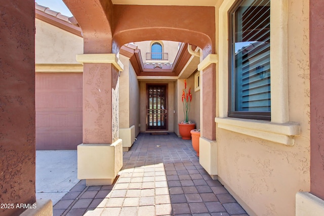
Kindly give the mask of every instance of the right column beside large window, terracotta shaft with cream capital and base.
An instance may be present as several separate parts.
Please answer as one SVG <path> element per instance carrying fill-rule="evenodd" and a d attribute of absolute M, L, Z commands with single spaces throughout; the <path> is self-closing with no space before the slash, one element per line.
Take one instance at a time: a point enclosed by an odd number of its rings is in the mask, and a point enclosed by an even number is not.
<path fill-rule="evenodd" d="M 208 174 L 217 178 L 216 146 L 216 63 L 217 54 L 210 54 L 198 65 L 201 77 L 200 87 L 200 139 L 199 163 Z"/>

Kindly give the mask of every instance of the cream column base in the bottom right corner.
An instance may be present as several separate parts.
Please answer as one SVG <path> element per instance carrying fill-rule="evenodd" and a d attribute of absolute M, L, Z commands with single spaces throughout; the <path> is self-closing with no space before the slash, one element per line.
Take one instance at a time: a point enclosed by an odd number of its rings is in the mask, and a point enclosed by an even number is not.
<path fill-rule="evenodd" d="M 308 192 L 296 194 L 296 216 L 324 215 L 324 200 Z"/>

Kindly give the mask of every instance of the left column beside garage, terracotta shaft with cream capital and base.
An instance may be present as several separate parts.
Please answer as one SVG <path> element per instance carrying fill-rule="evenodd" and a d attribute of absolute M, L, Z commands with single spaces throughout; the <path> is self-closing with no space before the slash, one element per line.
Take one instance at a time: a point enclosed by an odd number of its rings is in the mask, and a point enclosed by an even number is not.
<path fill-rule="evenodd" d="M 77 147 L 77 177 L 87 185 L 111 185 L 123 166 L 119 137 L 118 72 L 115 54 L 82 54 L 84 64 L 83 144 Z"/>

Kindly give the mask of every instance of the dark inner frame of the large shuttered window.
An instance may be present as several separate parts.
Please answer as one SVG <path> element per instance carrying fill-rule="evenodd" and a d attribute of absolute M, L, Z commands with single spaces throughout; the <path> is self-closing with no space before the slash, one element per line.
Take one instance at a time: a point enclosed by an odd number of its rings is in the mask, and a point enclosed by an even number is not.
<path fill-rule="evenodd" d="M 235 54 L 233 53 L 234 49 L 234 29 L 235 29 L 235 20 L 233 19 L 233 14 L 238 9 L 238 7 L 245 0 L 237 0 L 232 7 L 228 10 L 228 117 L 233 118 L 244 118 L 244 119 L 256 119 L 256 120 L 271 120 L 271 111 L 235 111 Z M 251 1 L 252 3 L 253 1 Z M 271 7 L 271 6 L 270 6 Z M 271 9 L 270 9 L 271 13 Z M 270 16 L 271 20 L 271 16 Z M 271 23 L 271 21 L 270 21 Z M 271 35 L 271 27 L 270 27 Z M 271 40 L 271 37 L 270 37 Z M 270 42 L 271 47 L 271 42 Z M 271 50 L 271 49 L 270 49 Z M 271 51 L 270 51 L 271 55 Z M 271 64 L 271 59 L 270 59 Z M 270 69 L 271 73 L 271 69 Z M 271 75 L 270 75 L 270 87 L 271 87 Z M 270 90 L 270 101 L 271 101 L 271 90 Z M 270 106 L 271 107 L 271 106 Z"/>

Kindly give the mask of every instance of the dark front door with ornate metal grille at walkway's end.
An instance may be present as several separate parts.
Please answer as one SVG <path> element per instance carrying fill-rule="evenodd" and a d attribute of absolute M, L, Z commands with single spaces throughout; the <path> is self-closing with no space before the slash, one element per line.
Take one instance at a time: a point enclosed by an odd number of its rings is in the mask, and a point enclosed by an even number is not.
<path fill-rule="evenodd" d="M 167 84 L 147 84 L 147 130 L 168 129 Z"/>

